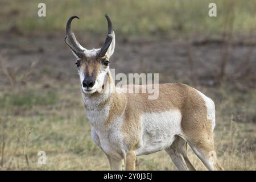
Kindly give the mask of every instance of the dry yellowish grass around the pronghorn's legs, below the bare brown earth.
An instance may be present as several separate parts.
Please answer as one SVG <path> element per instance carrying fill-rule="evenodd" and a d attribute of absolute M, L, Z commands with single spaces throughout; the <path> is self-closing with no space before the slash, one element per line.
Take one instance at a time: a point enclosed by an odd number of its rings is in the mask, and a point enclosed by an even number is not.
<path fill-rule="evenodd" d="M 55 82 L 47 82 L 50 85 L 49 89 L 57 92 L 58 98 L 54 103 L 24 107 L 10 104 L 7 100 L 5 107 L 1 108 L 1 131 L 3 132 L 0 137 L 5 136 L 1 140 L 1 144 L 5 142 L 4 152 L 1 151 L 2 169 L 108 170 L 106 156 L 90 138 L 90 123 L 86 119 L 79 85 L 74 83 L 60 90 L 55 86 Z M 26 87 L 33 93 L 42 89 L 40 84 L 28 84 Z M 216 104 L 215 141 L 218 159 L 227 170 L 255 170 L 255 123 L 236 121 L 234 114 L 230 113 L 238 109 L 236 97 L 254 102 L 256 98 L 255 96 L 243 97 L 239 93 L 234 93 L 231 97 L 229 94 L 229 97 L 226 97 L 229 92 L 226 89 L 218 88 L 215 93 L 224 98 Z M 207 89 L 201 88 L 201 90 L 204 92 Z M 20 92 L 20 94 L 23 93 Z M 0 97 L 2 96 L 1 94 Z M 24 105 L 26 103 L 24 102 Z M 254 111 L 253 113 L 249 111 L 251 106 L 253 106 L 252 103 L 241 105 L 248 111 L 247 114 L 251 114 L 251 117 L 254 114 L 255 117 Z M 37 154 L 41 150 L 46 151 L 45 166 L 37 164 L 39 158 Z M 197 169 L 206 169 L 190 148 L 188 156 Z M 169 156 L 161 151 L 139 156 L 137 169 L 176 170 L 176 167 Z"/>

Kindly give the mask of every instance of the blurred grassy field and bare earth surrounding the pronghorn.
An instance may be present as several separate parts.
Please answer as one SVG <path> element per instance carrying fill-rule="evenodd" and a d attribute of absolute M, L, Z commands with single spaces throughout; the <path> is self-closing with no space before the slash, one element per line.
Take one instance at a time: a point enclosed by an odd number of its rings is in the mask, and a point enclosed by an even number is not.
<path fill-rule="evenodd" d="M 38 4 L 46 4 L 46 17 Z M 217 17 L 208 15 L 209 3 Z M 115 73 L 159 73 L 216 103 L 218 160 L 255 170 L 256 1 L 0 1 L 0 169 L 108 170 L 90 138 L 79 76 L 64 43 L 71 15 L 77 39 L 99 48 L 113 22 Z M 40 166 L 38 152 L 45 151 Z M 206 169 L 189 148 L 197 169 Z M 139 156 L 137 169 L 176 170 L 169 156 Z"/>

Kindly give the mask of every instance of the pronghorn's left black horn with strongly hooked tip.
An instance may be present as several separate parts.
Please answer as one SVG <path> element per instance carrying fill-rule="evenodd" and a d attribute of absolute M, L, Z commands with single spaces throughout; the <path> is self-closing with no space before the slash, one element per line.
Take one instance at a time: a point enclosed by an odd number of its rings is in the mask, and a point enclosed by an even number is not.
<path fill-rule="evenodd" d="M 66 36 L 65 36 L 65 43 L 72 49 L 73 52 L 76 53 L 77 56 L 82 57 L 83 49 L 79 42 L 76 40 L 75 34 L 71 31 L 71 22 L 74 18 L 79 19 L 78 16 L 71 16 L 68 19 L 67 26 L 66 26 Z M 68 41 L 67 41 L 68 40 Z"/>

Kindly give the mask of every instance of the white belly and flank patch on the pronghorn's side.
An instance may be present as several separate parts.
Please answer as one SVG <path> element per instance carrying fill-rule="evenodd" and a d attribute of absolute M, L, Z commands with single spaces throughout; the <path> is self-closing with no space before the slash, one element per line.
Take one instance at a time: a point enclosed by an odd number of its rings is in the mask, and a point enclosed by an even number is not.
<path fill-rule="evenodd" d="M 171 146 L 175 135 L 181 134 L 179 110 L 146 113 L 141 116 L 142 138 L 137 155 L 151 154 Z"/>

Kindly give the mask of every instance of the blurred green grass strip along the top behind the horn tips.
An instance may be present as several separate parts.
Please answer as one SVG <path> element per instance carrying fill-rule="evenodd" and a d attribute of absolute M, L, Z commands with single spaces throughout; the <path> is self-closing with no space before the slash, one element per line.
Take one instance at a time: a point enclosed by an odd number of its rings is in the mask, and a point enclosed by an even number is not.
<path fill-rule="evenodd" d="M 43 1 L 47 16 L 39 18 L 38 3 L 42 1 L 2 1 L 1 11 L 9 18 L 2 19 L 0 30 L 18 28 L 24 34 L 31 32 L 65 32 L 65 23 L 71 15 L 80 16 L 74 20 L 75 31 L 102 35 L 106 30 L 104 14 L 113 20 L 118 36 L 173 36 L 207 35 L 217 36 L 228 31 L 246 34 L 255 30 L 256 1 L 216 0 L 217 17 L 208 16 L 209 0 L 63 0 Z"/>

